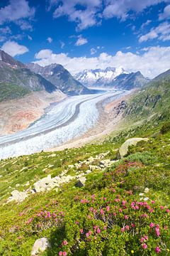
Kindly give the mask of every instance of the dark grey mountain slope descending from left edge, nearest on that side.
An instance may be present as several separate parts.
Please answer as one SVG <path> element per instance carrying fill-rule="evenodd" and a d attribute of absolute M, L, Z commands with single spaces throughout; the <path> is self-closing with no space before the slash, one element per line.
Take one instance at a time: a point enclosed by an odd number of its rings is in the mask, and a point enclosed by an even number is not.
<path fill-rule="evenodd" d="M 51 82 L 28 70 L 23 63 L 14 60 L 0 50 L 0 82 L 6 86 L 18 85 L 30 91 L 46 90 L 53 92 L 56 87 Z"/>

